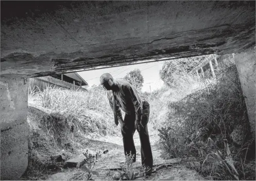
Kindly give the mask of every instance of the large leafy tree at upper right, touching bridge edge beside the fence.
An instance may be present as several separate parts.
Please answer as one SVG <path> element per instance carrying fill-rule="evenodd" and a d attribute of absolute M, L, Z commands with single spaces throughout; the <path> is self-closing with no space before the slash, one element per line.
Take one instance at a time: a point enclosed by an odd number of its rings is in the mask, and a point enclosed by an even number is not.
<path fill-rule="evenodd" d="M 181 75 L 182 73 L 190 72 L 208 56 L 209 55 L 193 56 L 165 61 L 159 72 L 160 78 L 167 86 L 172 86 L 174 75 Z"/>

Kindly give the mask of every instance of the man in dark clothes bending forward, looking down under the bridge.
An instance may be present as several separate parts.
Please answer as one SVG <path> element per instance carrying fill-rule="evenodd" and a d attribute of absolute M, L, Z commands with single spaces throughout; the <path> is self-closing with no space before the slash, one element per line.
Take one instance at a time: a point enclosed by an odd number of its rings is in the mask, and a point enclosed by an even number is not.
<path fill-rule="evenodd" d="M 134 155 L 136 150 L 133 134 L 138 131 L 141 141 L 141 163 L 145 173 L 152 171 L 153 158 L 148 135 L 149 104 L 139 96 L 138 91 L 128 81 L 115 81 L 109 73 L 100 76 L 100 85 L 108 92 L 110 106 L 114 112 L 116 126 L 120 123 L 125 154 Z M 125 112 L 123 120 L 121 109 Z"/>

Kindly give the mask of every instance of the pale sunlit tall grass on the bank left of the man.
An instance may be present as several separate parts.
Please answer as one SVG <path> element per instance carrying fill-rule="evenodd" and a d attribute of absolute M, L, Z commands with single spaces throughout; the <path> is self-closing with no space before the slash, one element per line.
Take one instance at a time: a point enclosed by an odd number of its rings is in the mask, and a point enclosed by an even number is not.
<path fill-rule="evenodd" d="M 33 97 L 51 113 L 65 117 L 66 122 L 73 125 L 78 133 L 115 134 L 106 92 L 98 86 L 88 91 L 49 86 Z"/>

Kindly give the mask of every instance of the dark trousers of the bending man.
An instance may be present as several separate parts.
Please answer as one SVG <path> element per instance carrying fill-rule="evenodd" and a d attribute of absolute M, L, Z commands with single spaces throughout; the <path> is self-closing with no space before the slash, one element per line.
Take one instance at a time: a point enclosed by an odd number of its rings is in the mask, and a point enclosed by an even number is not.
<path fill-rule="evenodd" d="M 143 112 L 141 123 L 144 126 L 144 128 L 141 128 L 141 131 L 139 132 L 140 141 L 141 141 L 141 164 L 145 166 L 152 167 L 153 166 L 153 157 L 152 157 L 152 151 L 151 146 L 149 142 L 149 135 L 148 135 L 148 118 L 149 118 L 149 104 L 146 102 L 146 104 L 143 104 Z M 134 146 L 133 141 L 133 135 L 135 132 L 135 112 L 132 114 L 126 114 L 124 118 L 124 125 L 122 130 L 123 135 L 123 143 L 124 143 L 124 151 L 125 154 L 128 153 L 134 155 L 133 162 L 136 161 L 136 149 Z"/>

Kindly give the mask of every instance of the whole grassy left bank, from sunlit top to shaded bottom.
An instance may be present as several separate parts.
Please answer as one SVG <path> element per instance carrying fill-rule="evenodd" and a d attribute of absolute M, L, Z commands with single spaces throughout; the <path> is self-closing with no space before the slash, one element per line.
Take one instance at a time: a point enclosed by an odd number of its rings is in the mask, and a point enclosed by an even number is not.
<path fill-rule="evenodd" d="M 50 160 L 50 156 L 62 153 L 68 159 L 81 154 L 84 137 L 120 135 L 106 92 L 98 86 L 88 92 L 53 86 L 39 92 L 29 89 L 28 100 L 30 106 L 45 112 L 29 109 L 29 176 L 22 179 L 44 179 L 60 171 L 63 163 Z"/>

